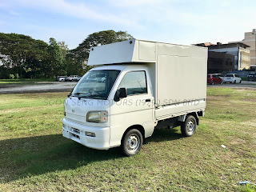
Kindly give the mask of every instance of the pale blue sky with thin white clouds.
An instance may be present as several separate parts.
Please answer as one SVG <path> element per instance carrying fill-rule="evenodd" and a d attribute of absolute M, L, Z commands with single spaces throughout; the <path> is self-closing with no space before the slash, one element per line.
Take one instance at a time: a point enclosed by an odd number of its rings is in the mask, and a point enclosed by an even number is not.
<path fill-rule="evenodd" d="M 0 0 L 0 32 L 76 48 L 94 32 L 190 45 L 241 41 L 256 28 L 255 0 Z"/>

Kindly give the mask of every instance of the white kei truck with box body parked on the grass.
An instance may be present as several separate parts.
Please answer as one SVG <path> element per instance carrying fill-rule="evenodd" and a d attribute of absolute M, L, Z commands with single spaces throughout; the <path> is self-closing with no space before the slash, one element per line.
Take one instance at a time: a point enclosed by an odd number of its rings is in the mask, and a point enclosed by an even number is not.
<path fill-rule="evenodd" d="M 90 48 L 88 65 L 64 102 L 65 138 L 131 156 L 158 126 L 195 133 L 206 109 L 207 48 L 131 39 Z"/>

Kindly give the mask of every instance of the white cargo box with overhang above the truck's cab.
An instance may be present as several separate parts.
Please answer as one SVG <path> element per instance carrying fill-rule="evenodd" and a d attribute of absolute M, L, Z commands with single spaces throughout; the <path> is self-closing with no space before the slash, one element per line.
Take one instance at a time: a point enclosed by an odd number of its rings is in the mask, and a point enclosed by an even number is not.
<path fill-rule="evenodd" d="M 90 49 L 89 66 L 144 64 L 156 105 L 206 98 L 207 48 L 132 39 Z"/>

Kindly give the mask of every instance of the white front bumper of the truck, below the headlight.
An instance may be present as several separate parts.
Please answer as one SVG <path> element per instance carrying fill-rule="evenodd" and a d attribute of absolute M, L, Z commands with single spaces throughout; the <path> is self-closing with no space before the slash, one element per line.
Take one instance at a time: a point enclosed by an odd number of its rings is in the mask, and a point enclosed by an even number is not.
<path fill-rule="evenodd" d="M 86 136 L 86 132 L 95 134 L 95 137 Z M 62 135 L 83 146 L 98 150 L 110 149 L 110 127 L 84 126 L 62 118 Z"/>

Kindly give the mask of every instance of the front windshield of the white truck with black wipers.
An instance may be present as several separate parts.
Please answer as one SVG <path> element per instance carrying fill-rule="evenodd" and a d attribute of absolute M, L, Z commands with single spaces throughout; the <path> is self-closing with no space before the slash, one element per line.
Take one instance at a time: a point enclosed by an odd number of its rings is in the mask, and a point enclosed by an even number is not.
<path fill-rule="evenodd" d="M 106 99 L 119 73 L 120 70 L 91 70 L 78 82 L 70 95 Z"/>

